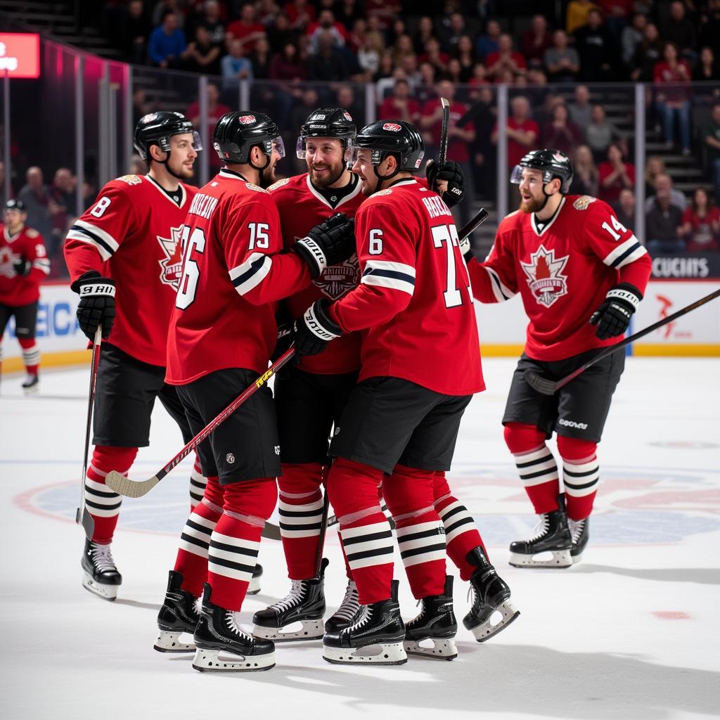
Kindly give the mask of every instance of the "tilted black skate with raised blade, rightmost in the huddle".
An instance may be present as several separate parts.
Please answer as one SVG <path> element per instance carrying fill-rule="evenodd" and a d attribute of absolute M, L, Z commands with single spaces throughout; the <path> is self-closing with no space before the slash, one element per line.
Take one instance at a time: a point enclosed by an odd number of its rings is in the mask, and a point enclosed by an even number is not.
<path fill-rule="evenodd" d="M 472 606 L 462 618 L 462 624 L 472 630 L 477 642 L 485 642 L 505 629 L 520 611 L 510 603 L 508 583 L 498 575 L 482 547 L 472 549 L 466 557 L 467 562 L 477 567 L 477 570 L 470 578 Z M 500 613 L 500 620 L 493 625 L 492 616 L 495 613 Z"/>

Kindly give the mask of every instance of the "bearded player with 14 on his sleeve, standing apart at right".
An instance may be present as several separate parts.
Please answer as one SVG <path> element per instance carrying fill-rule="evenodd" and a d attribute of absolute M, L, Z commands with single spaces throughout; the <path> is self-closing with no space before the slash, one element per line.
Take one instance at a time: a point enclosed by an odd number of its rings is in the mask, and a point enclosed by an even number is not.
<path fill-rule="evenodd" d="M 540 523 L 530 539 L 510 544 L 510 564 L 570 567 L 588 543 L 600 477 L 596 449 L 625 356 L 608 356 L 553 397 L 533 390 L 523 374 L 559 379 L 616 343 L 642 300 L 651 263 L 606 202 L 567 195 L 572 166 L 564 153 L 532 150 L 510 181 L 520 186 L 520 209 L 500 223 L 487 260 L 471 258 L 469 243 L 463 248 L 477 300 L 502 302 L 519 292 L 530 320 L 503 425 Z M 546 446 L 553 433 L 564 494 Z"/>

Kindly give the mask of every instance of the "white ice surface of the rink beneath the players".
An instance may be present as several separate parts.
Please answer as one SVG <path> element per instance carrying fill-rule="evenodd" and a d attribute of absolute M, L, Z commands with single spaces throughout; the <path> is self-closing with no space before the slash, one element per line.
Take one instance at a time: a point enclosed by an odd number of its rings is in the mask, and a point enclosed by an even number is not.
<path fill-rule="evenodd" d="M 189 467 L 125 500 L 114 556 L 116 603 L 81 588 L 80 495 L 87 371 L 45 372 L 37 397 L 4 377 L 0 397 L 0 718 L 652 719 L 720 716 L 720 362 L 629 359 L 600 445 L 602 480 L 585 560 L 519 570 L 508 542 L 534 517 L 500 418 L 511 360 L 484 362 L 488 392 L 462 426 L 450 474 L 480 524 L 521 616 L 485 644 L 462 627 L 454 662 L 401 667 L 324 662 L 317 643 L 279 646 L 277 665 L 202 675 L 192 655 L 154 652 L 155 618 L 186 517 Z M 181 446 L 158 405 L 148 477 Z M 328 531 L 328 603 L 344 578 Z M 264 541 L 261 595 L 243 623 L 288 586 L 282 548 Z M 396 559 L 397 560 L 397 559 Z M 452 568 L 454 571 L 454 568 Z M 399 560 L 402 609 L 415 613 Z M 467 610 L 456 579 L 456 614 Z"/>

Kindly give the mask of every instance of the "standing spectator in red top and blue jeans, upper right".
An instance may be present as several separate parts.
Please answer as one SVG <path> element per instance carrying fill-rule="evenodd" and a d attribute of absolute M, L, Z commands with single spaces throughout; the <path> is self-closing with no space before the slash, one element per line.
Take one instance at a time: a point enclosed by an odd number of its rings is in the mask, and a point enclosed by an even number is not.
<path fill-rule="evenodd" d="M 678 48 L 673 42 L 665 43 L 662 56 L 663 61 L 657 63 L 653 71 L 653 80 L 657 87 L 655 102 L 660 111 L 660 117 L 662 117 L 665 145 L 667 148 L 672 148 L 675 138 L 675 118 L 677 117 L 683 155 L 690 155 L 688 88 L 677 86 L 678 83 L 690 81 L 690 66 L 686 60 L 678 59 Z"/>

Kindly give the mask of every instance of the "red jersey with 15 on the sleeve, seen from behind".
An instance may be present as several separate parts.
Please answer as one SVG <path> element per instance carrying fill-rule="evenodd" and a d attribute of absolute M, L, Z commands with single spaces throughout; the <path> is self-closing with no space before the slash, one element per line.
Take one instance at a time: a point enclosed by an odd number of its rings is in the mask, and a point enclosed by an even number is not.
<path fill-rule="evenodd" d="M 275 303 L 310 284 L 282 251 L 270 194 L 222 169 L 195 196 L 182 235 L 182 279 L 168 333 L 166 382 L 215 370 L 265 372 L 277 341 Z"/>

